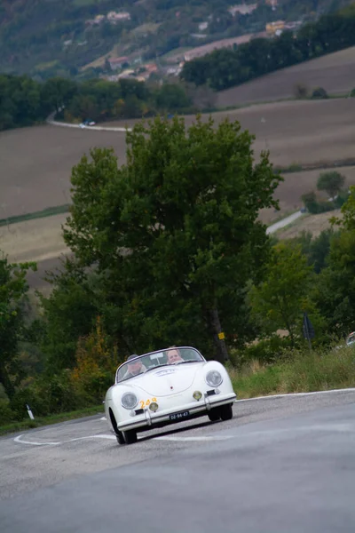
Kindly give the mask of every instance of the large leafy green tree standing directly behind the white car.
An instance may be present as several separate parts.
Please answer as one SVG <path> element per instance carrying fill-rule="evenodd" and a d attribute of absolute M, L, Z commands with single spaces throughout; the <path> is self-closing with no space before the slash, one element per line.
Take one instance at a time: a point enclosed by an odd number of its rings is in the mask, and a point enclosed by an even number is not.
<path fill-rule="evenodd" d="M 83 266 L 106 272 L 106 306 L 127 346 L 241 333 L 239 307 L 269 251 L 263 207 L 278 206 L 268 154 L 248 131 L 198 117 L 157 117 L 127 133 L 127 163 L 94 149 L 73 169 L 64 238 Z M 107 317 L 108 311 L 103 313 Z M 108 319 L 106 318 L 106 321 Z M 223 323 L 223 328 L 222 328 Z"/>

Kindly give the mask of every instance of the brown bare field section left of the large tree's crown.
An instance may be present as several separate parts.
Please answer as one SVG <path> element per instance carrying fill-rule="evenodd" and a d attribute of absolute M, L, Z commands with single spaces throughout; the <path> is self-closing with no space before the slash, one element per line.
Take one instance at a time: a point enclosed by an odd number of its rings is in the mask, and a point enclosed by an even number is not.
<path fill-rule="evenodd" d="M 125 161 L 124 134 L 55 126 L 0 133 L 0 219 L 70 203 L 70 173 L 91 147 L 115 147 Z"/>

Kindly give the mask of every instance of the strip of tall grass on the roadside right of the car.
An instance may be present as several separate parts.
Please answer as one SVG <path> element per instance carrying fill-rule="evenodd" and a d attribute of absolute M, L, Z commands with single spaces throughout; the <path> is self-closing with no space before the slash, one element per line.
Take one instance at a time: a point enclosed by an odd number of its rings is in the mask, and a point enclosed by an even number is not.
<path fill-rule="evenodd" d="M 249 362 L 240 371 L 231 370 L 230 375 L 239 398 L 348 388 L 355 386 L 355 347 L 295 351 L 269 365 Z"/>

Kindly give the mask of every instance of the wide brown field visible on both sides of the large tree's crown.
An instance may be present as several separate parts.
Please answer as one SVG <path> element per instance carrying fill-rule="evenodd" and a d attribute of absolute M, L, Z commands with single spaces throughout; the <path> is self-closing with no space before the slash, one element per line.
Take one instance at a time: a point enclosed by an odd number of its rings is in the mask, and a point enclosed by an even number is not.
<path fill-rule="evenodd" d="M 217 123 L 227 116 L 239 120 L 242 129 L 256 135 L 256 157 L 261 150 L 269 149 L 272 163 L 277 166 L 332 162 L 354 155 L 352 99 L 263 104 L 213 116 Z M 207 115 L 203 118 L 206 120 Z M 193 120 L 193 116 L 187 116 L 186 124 Z M 122 132 L 45 125 L 0 133 L 0 219 L 70 203 L 71 169 L 84 153 L 89 154 L 91 147 L 114 147 L 119 163 L 125 162 Z M 307 181 L 312 174 L 307 172 L 304 176 Z M 304 192 L 298 178 L 296 174 L 287 177 L 296 186 L 288 193 L 287 203 L 292 206 Z M 307 183 L 304 185 L 308 187 Z"/>

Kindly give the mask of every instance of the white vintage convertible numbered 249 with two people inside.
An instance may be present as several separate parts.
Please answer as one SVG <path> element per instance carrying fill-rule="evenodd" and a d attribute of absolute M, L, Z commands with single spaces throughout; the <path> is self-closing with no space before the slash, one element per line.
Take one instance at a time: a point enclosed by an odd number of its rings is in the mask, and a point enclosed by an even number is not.
<path fill-rule="evenodd" d="M 190 346 L 130 356 L 106 392 L 106 419 L 119 444 L 137 442 L 137 433 L 182 420 L 233 417 L 236 399 L 225 367 Z"/>

